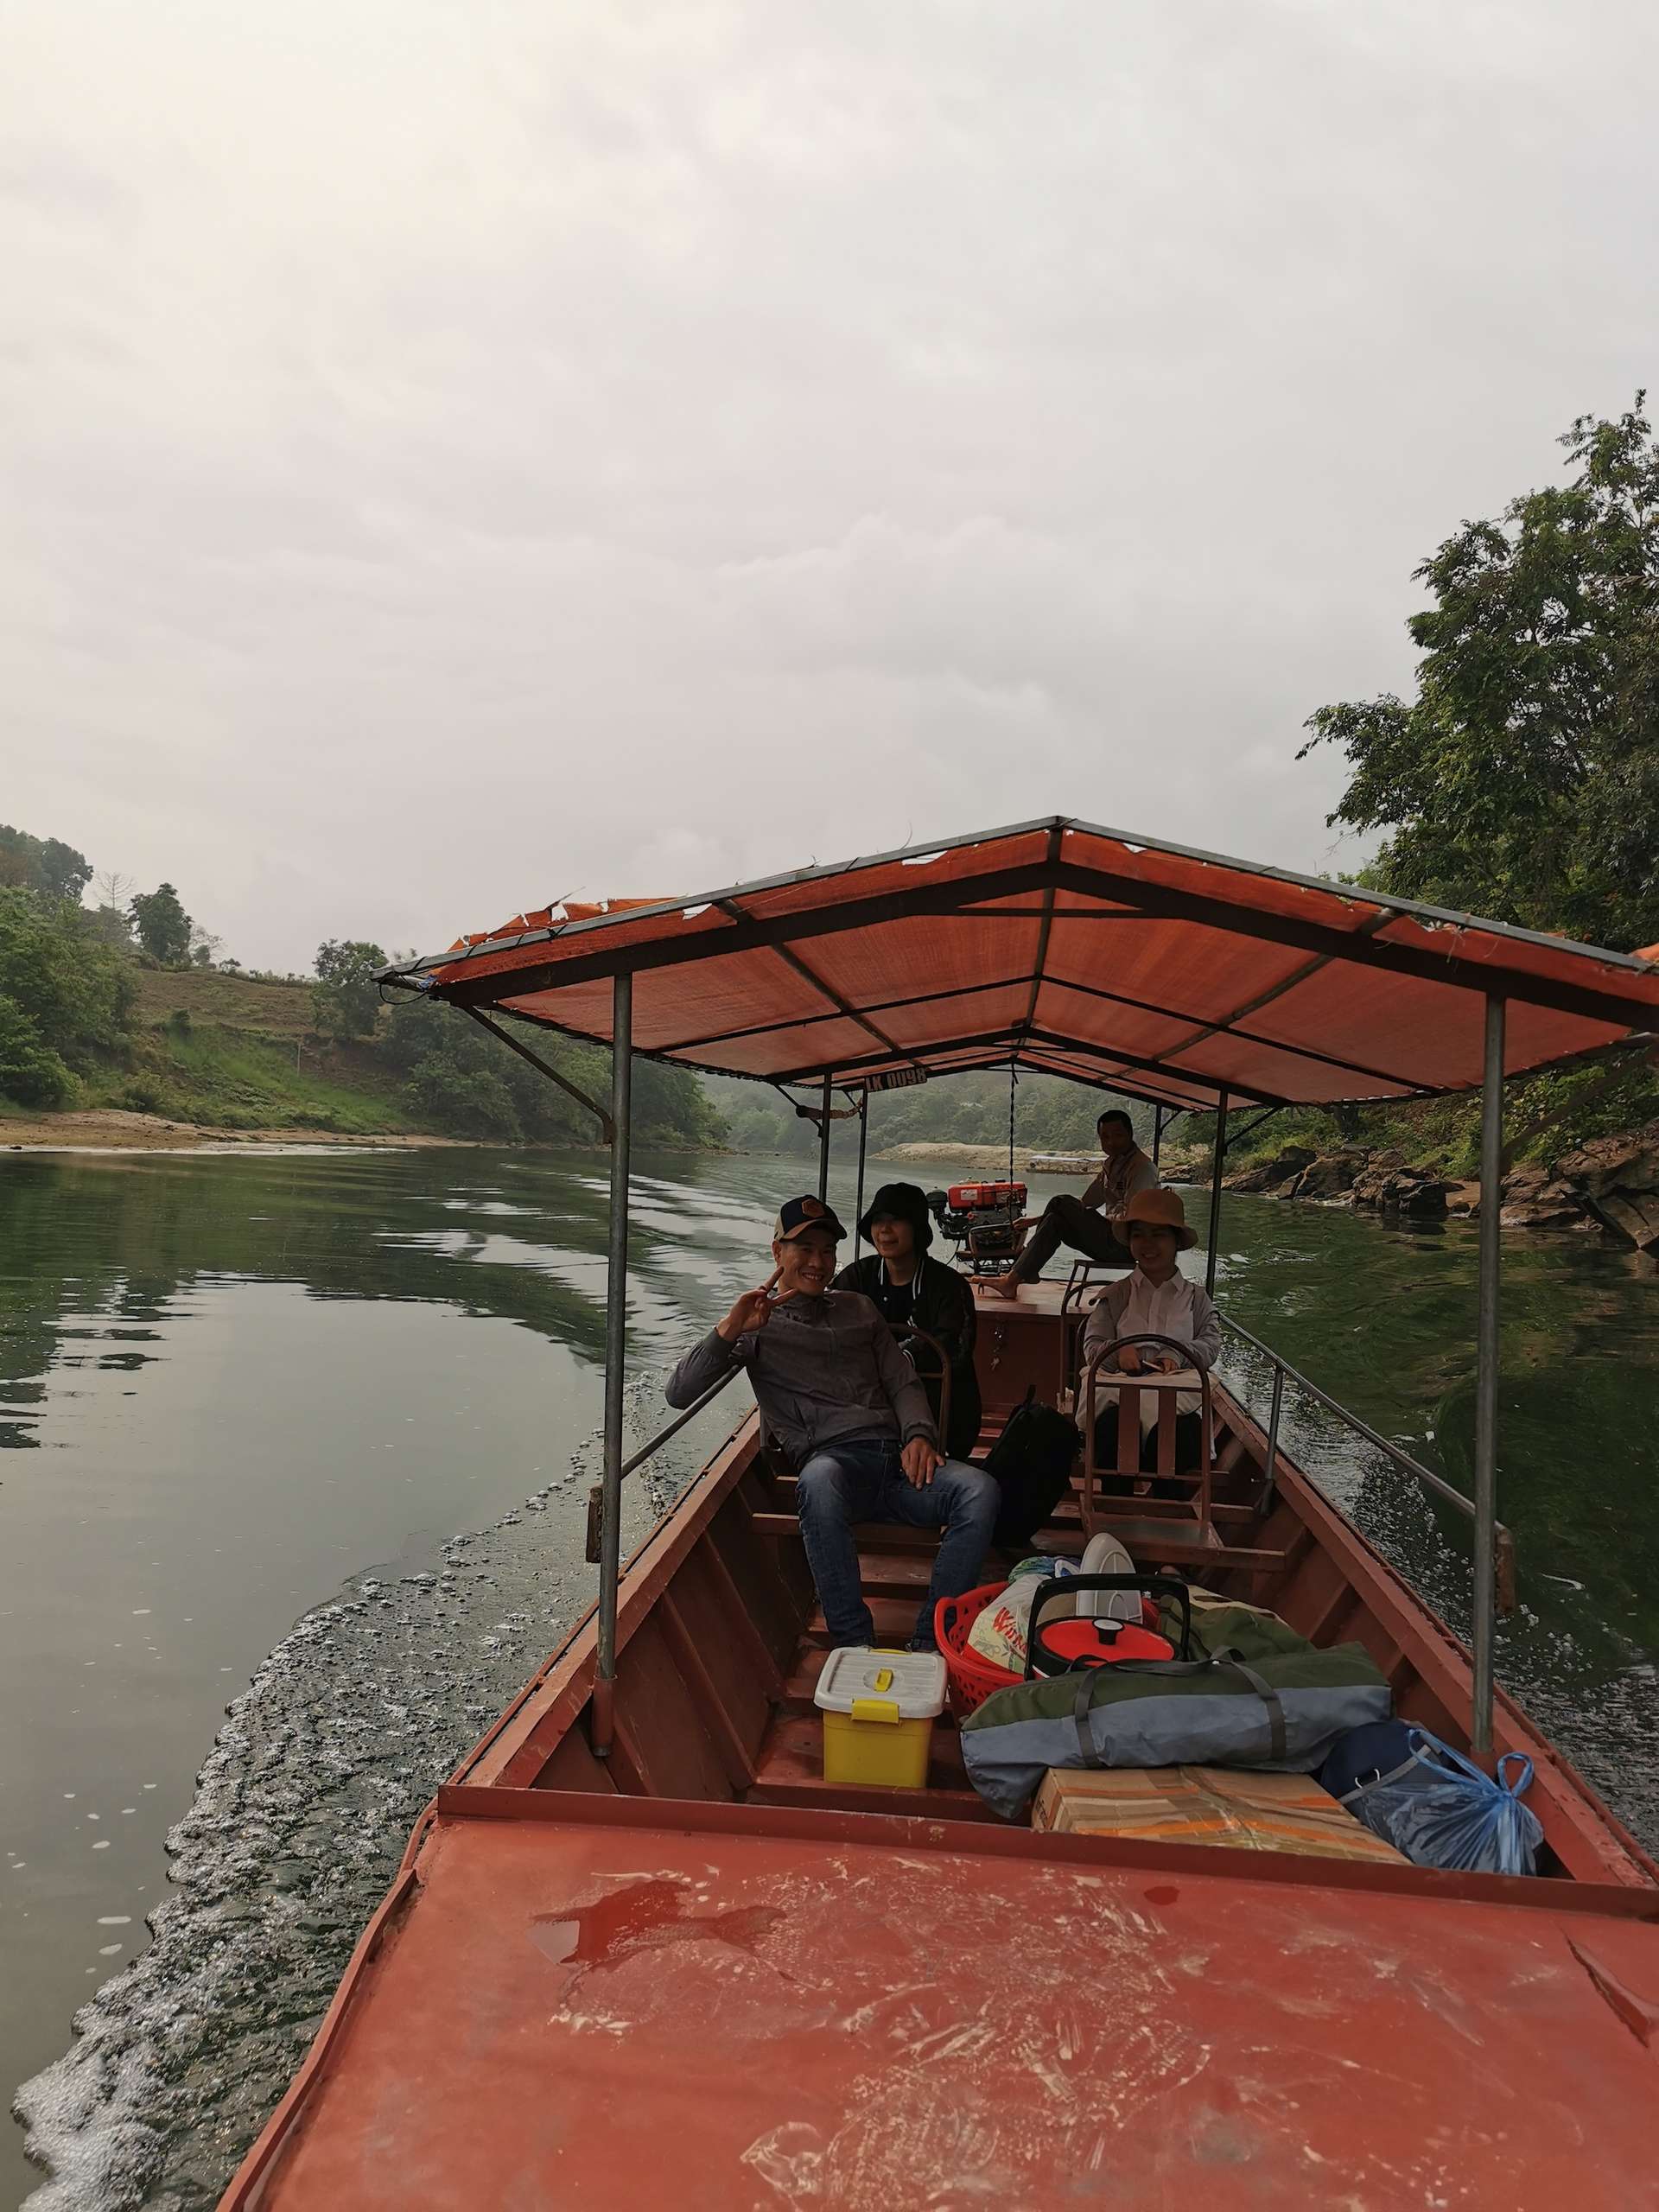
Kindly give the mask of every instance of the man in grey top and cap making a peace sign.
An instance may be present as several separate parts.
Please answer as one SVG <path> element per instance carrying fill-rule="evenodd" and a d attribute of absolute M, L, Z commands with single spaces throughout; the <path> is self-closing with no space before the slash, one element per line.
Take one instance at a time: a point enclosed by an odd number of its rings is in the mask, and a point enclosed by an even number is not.
<path fill-rule="evenodd" d="M 686 1407 L 732 1367 L 748 1367 L 770 1433 L 796 1469 L 807 1566 L 834 1644 L 874 1644 L 854 1524 L 940 1528 L 911 1650 L 933 1650 L 933 1606 L 980 1577 L 998 1517 L 998 1484 L 947 1460 L 916 1369 L 876 1305 L 832 1290 L 845 1230 L 823 1199 L 787 1199 L 772 1232 L 774 1270 L 692 1345 L 668 1376 Z"/>

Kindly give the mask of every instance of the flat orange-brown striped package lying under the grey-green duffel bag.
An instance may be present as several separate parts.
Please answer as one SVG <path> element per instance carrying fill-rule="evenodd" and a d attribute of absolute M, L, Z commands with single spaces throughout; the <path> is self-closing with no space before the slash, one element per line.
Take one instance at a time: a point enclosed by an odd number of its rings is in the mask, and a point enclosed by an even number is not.
<path fill-rule="evenodd" d="M 1031 1825 L 1057 1836 L 1405 1865 L 1391 1843 L 1363 1827 L 1312 1774 L 1254 1767 L 1051 1767 Z"/>

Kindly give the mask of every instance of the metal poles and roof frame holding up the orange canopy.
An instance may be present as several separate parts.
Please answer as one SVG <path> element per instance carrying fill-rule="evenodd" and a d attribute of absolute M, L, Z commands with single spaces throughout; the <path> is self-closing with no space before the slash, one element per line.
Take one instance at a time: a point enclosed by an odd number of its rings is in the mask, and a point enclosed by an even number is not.
<path fill-rule="evenodd" d="M 1201 869 L 1228 869 L 1243 883 L 1263 883 L 1274 887 L 1287 887 L 1298 891 L 1321 894 L 1329 898 L 1332 894 L 1343 896 L 1347 887 L 1329 885 L 1321 878 L 1292 876 L 1279 869 L 1256 867 L 1252 863 L 1228 860 L 1217 854 L 1194 852 L 1190 847 L 1161 845 L 1148 838 L 1130 838 L 1121 832 L 1093 830 L 1091 825 L 1071 823 L 1064 818 L 1044 818 L 1033 823 L 1015 825 L 1006 832 L 987 832 L 980 836 L 949 838 L 936 845 L 916 847 L 914 852 L 880 854 L 872 860 L 856 860 L 843 867 L 814 867 L 801 869 L 787 876 L 772 876 L 761 883 L 739 885 L 723 894 L 712 894 L 701 900 L 664 900 L 664 902 L 639 902 L 626 905 L 615 914 L 602 914 L 593 918 L 580 918 L 571 922 L 555 925 L 549 918 L 546 927 L 518 927 L 502 931 L 491 938 L 467 940 L 465 945 L 451 949 L 442 956 L 431 956 L 425 960 L 407 962 L 396 969 L 387 969 L 380 982 L 398 989 L 431 991 L 434 995 L 458 1004 L 462 1011 L 473 1015 L 484 1029 L 498 1035 L 511 1051 L 529 1060 L 566 1093 L 577 1097 L 588 1106 L 599 1119 L 606 1141 L 611 1146 L 611 1234 L 608 1234 L 608 1270 L 606 1270 L 606 1371 L 604 1371 L 604 1471 L 602 1471 L 602 1517 L 599 1517 L 599 1619 L 597 1619 L 597 1681 L 593 1694 L 593 1734 L 595 1752 L 608 1754 L 611 1745 L 611 1710 L 613 1710 L 613 1686 L 617 1666 L 617 1582 L 619 1582 L 619 1559 L 622 1559 L 622 1480 L 624 1480 L 624 1453 L 622 1453 L 622 1418 L 624 1418 L 624 1374 L 626 1374 L 626 1318 L 628 1318 L 628 1172 L 630 1172 L 630 1141 L 633 1141 L 633 1060 L 635 1060 L 635 978 L 648 969 L 664 964 L 681 967 L 697 960 L 728 956 L 732 951 L 761 949 L 768 947 L 783 956 L 783 960 L 805 978 L 805 982 L 830 1002 L 832 1013 L 812 1015 L 812 1022 L 823 1022 L 830 1033 L 836 1029 L 836 1015 L 863 1026 L 883 1048 L 876 1053 L 858 1055 L 849 1062 L 845 1055 L 832 1055 L 818 1060 L 816 1064 L 790 1066 L 761 1079 L 796 1082 L 816 1079 L 821 1084 L 821 1099 L 816 1106 L 799 1106 L 801 1113 L 816 1119 L 818 1124 L 818 1194 L 827 1192 L 830 1181 L 830 1135 L 832 1135 L 832 1091 L 841 1084 L 843 1091 L 856 1097 L 858 1113 L 858 1212 L 863 1212 L 863 1183 L 865 1183 L 865 1135 L 867 1135 L 867 1108 L 869 1093 L 874 1088 L 885 1088 L 883 1075 L 889 1071 L 911 1071 L 925 1068 L 925 1053 L 907 1053 L 902 1044 L 894 1044 L 872 1020 L 872 1013 L 885 1011 L 874 1004 L 860 1006 L 858 995 L 838 991 L 827 984 L 818 973 L 814 973 L 796 953 L 790 951 L 792 942 L 810 938 L 834 938 L 838 931 L 872 929 L 887 920 L 916 914 L 973 914 L 978 918 L 1035 918 L 1037 940 L 1035 940 L 1035 964 L 1029 980 L 1029 1002 L 1024 1020 L 1006 1022 L 1000 1031 L 978 1031 L 969 1037 L 949 1040 L 945 1051 L 949 1060 L 938 1064 L 927 1073 L 958 1073 L 973 1066 L 1013 1064 L 1033 1066 L 1040 1071 L 1051 1071 L 1068 1075 L 1075 1082 L 1088 1084 L 1093 1088 L 1113 1088 L 1148 1099 L 1155 1108 L 1155 1146 L 1164 1133 L 1166 1110 L 1214 1110 L 1214 1146 L 1212 1146 L 1212 1179 L 1210 1179 L 1210 1223 L 1208 1223 L 1208 1261 L 1206 1261 L 1206 1283 L 1214 1290 L 1217 1276 L 1217 1245 L 1221 1228 L 1221 1170 L 1228 1152 L 1228 1106 L 1237 1097 L 1250 1097 L 1267 1110 L 1276 1110 L 1281 1104 L 1294 1104 L 1292 1099 L 1281 1099 L 1256 1086 L 1239 1079 L 1225 1079 L 1214 1075 L 1201 1075 L 1188 1068 L 1172 1068 L 1148 1055 L 1117 1055 L 1099 1046 L 1091 1046 L 1077 1053 L 1071 1064 L 1066 1064 L 1066 1040 L 1053 1031 L 1037 1031 L 1033 1026 L 1037 1011 L 1037 995 L 1044 987 L 1044 958 L 1051 942 L 1051 929 L 1057 914 L 1057 894 L 1062 889 L 1075 889 L 1091 896 L 1102 896 L 1099 872 L 1091 874 L 1079 867 L 1068 867 L 1064 860 L 1064 836 L 1075 832 L 1077 836 L 1093 841 L 1108 841 L 1121 847 L 1126 854 L 1155 854 L 1159 860 L 1170 863 L 1194 863 Z M 889 889 L 876 898 L 847 898 L 841 902 L 830 902 L 818 909 L 776 914 L 757 920 L 745 911 L 743 902 L 754 900 L 763 894 L 794 891 L 803 885 L 830 885 L 836 878 L 847 883 L 860 872 L 914 865 L 947 854 L 962 854 L 973 847 L 1020 841 L 1031 836 L 1044 838 L 1044 854 L 1040 860 L 1024 860 L 1015 867 L 1000 867 L 984 876 L 958 880 L 945 887 L 927 885 L 922 880 L 905 885 L 902 889 Z M 1035 891 L 1042 905 L 1031 909 L 984 907 L 987 898 L 1011 898 Z M 969 902 L 964 905 L 962 894 Z M 1137 905 L 1130 909 L 1133 918 L 1157 916 L 1175 922 L 1197 922 L 1201 929 L 1221 929 L 1232 936 L 1259 938 L 1270 945 L 1287 945 L 1314 956 L 1312 967 L 1321 967 L 1332 960 L 1349 960 L 1358 967 L 1385 969 L 1391 973 L 1416 975 L 1420 980 L 1431 980 L 1436 984 L 1455 987 L 1460 991 L 1478 991 L 1484 1000 L 1484 1048 L 1480 1064 L 1480 1290 L 1478 1290 L 1478 1329 L 1475 1329 L 1475 1356 L 1478 1356 L 1478 1378 L 1475 1378 L 1475 1498 L 1473 1498 L 1473 1717 L 1471 1717 L 1471 1741 L 1478 1752 L 1491 1752 L 1491 1719 L 1493 1719 L 1493 1641 L 1495 1641 L 1495 1511 L 1498 1511 L 1498 1285 L 1500 1285 L 1500 1181 L 1502 1181 L 1502 1084 L 1504 1084 L 1504 1037 L 1506 1037 L 1506 1000 L 1517 995 L 1533 1006 L 1551 1006 L 1555 1011 L 1566 1011 L 1568 1015 L 1579 1015 L 1588 1022 L 1610 1022 L 1621 1024 L 1626 1035 L 1637 1033 L 1637 1015 L 1646 1013 L 1648 1004 L 1659 1006 L 1659 993 L 1644 991 L 1610 993 L 1606 982 L 1617 982 L 1619 971 L 1628 971 L 1637 978 L 1655 978 L 1655 969 L 1624 953 L 1604 953 L 1595 947 L 1568 947 L 1559 938 L 1544 938 L 1533 931 L 1511 929 L 1498 922 L 1480 922 L 1471 916 L 1449 914 L 1436 907 L 1413 905 L 1409 900 L 1383 898 L 1374 891 L 1354 891 L 1354 902 L 1374 909 L 1374 918 L 1354 933 L 1338 933 L 1327 922 L 1318 918 L 1307 920 L 1298 916 L 1285 916 L 1276 911 L 1259 911 L 1245 905 L 1228 907 L 1225 898 L 1214 896 L 1212 885 L 1201 889 L 1179 889 L 1170 894 L 1157 885 L 1135 887 Z M 668 936 L 639 940 L 641 925 L 653 922 L 695 922 L 708 911 L 721 916 L 723 927 L 695 927 L 688 936 Z M 1064 916 L 1066 909 L 1060 909 Z M 1108 909 L 1102 909 L 1091 918 L 1110 918 Z M 1413 925 L 1427 925 L 1436 931 L 1478 931 L 1480 933 L 1480 956 L 1458 951 L 1427 951 L 1420 945 L 1391 945 L 1380 940 L 1380 929 L 1396 922 L 1409 920 Z M 522 918 L 520 918 L 522 922 Z M 606 931 L 613 933 L 606 947 Z M 617 942 L 617 938 L 626 942 Z M 533 958 L 535 947 L 557 945 L 557 956 Z M 1593 984 L 1588 973 L 1579 984 L 1575 978 L 1562 978 L 1555 973 L 1540 973 L 1537 969 L 1515 967 L 1500 960 L 1498 953 L 1506 945 L 1515 947 L 1515 960 L 1520 962 L 1522 951 L 1544 951 L 1551 956 L 1575 953 L 1584 956 L 1586 962 L 1595 962 L 1604 975 Z M 531 953 L 526 960 L 524 956 Z M 489 967 L 487 967 L 489 962 Z M 1551 962 L 1553 964 L 1553 962 Z M 1613 971 L 1613 975 L 1608 975 Z M 1281 984 L 1265 995 L 1279 995 L 1279 989 L 1292 989 L 1307 969 L 1292 973 L 1290 984 Z M 518 1037 L 502 1031 L 482 1011 L 491 1006 L 498 1013 L 511 1013 L 520 1020 L 529 1020 L 544 1029 L 566 1029 L 566 1024 L 555 1022 L 538 1011 L 524 1006 L 507 1004 L 513 995 L 524 995 L 526 991 L 557 991 L 566 984 L 577 982 L 599 982 L 611 980 L 611 1020 L 608 1040 L 611 1044 L 611 1104 L 608 1108 L 597 1099 L 582 1093 L 568 1077 L 551 1068 L 538 1053 L 524 1046 Z M 1606 982 L 1604 982 L 1606 980 Z M 1011 980 L 1013 982 L 1013 980 Z M 971 995 L 971 989 L 936 993 L 940 998 Z M 1000 987 L 987 987 L 1000 989 Z M 1064 982 L 1062 989 L 1073 989 Z M 1110 993 L 1091 993 L 1102 1000 L 1110 1000 Z M 896 1000 L 894 1004 L 922 1004 L 927 993 L 916 993 L 911 1000 Z M 1148 1006 L 1146 1000 L 1121 998 L 1115 1000 L 1121 1006 L 1139 1006 L 1141 1011 L 1159 1011 Z M 1168 1009 L 1164 1009 L 1168 1011 Z M 1248 1011 L 1248 1009 L 1245 1009 Z M 588 1006 L 593 1015 L 593 1009 Z M 1179 1020 L 1186 1020 L 1183 1015 Z M 743 1031 L 743 1035 L 763 1035 L 768 1024 L 757 1024 Z M 785 1020 L 776 1024 L 783 1031 L 801 1029 L 801 1018 Z M 595 1029 L 571 1026 L 571 1035 L 595 1040 Z M 1219 1035 L 1219 1029 L 1210 1029 L 1208 1035 Z M 1243 1035 L 1237 1029 L 1228 1029 L 1228 1035 Z M 1646 1033 L 1646 1024 L 1644 1024 Z M 737 1033 L 728 1033 L 737 1035 Z M 661 1060 L 670 1066 L 708 1066 L 710 1062 L 690 1062 L 681 1057 L 690 1048 L 714 1046 L 726 1042 L 723 1035 L 712 1035 L 708 1040 L 684 1040 L 677 1048 L 648 1051 L 644 1057 Z M 1261 1040 L 1270 1042 L 1270 1040 Z M 1031 1046 L 1042 1046 L 1033 1053 Z M 1190 1048 L 1188 1044 L 1181 1051 Z M 1305 1048 L 1305 1057 L 1325 1060 L 1332 1073 L 1343 1071 L 1349 1077 L 1383 1079 L 1391 1082 L 1391 1095 L 1425 1095 L 1425 1088 L 1469 1088 L 1467 1084 L 1455 1086 L 1418 1086 L 1402 1084 L 1398 1077 L 1389 1079 L 1378 1068 L 1363 1068 L 1352 1060 L 1338 1060 L 1334 1055 L 1323 1055 L 1312 1046 Z M 1577 1057 L 1568 1051 L 1566 1055 L 1546 1055 L 1542 1062 L 1551 1064 L 1553 1057 Z M 1084 1062 L 1084 1064 L 1079 1064 Z M 726 1073 L 754 1075 L 754 1068 L 728 1068 Z M 1164 1077 L 1155 1084 L 1155 1077 Z M 1175 1082 L 1170 1082 L 1175 1077 Z M 898 1073 L 898 1082 L 920 1079 L 920 1075 Z M 1172 1095 L 1186 1088 L 1192 1093 L 1199 1088 L 1201 1097 Z M 1206 1095 L 1208 1093 L 1208 1095 Z M 1345 1097 L 1367 1097 L 1376 1093 L 1363 1093 L 1347 1088 Z M 1310 1099 L 1310 1104 L 1314 1104 Z M 675 1422 L 672 1427 L 679 1427 Z M 653 1449 L 653 1447 L 648 1447 Z M 637 1453 L 633 1462 L 644 1453 Z"/>

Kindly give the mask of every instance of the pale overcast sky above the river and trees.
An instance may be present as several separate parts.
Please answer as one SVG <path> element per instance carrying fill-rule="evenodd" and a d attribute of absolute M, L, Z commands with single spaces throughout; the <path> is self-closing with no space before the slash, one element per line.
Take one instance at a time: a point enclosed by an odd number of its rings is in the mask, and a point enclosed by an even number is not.
<path fill-rule="evenodd" d="M 248 964 L 1029 814 L 1358 858 L 1659 383 L 1650 0 L 0 0 L 0 821 Z"/>

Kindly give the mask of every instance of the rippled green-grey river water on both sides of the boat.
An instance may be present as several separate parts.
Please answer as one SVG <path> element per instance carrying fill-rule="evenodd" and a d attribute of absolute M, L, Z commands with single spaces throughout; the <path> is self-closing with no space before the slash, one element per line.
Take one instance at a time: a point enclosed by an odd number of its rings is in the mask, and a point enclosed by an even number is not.
<path fill-rule="evenodd" d="M 416 1812 L 588 1601 L 604 1177 L 489 1150 L 0 1155 L 0 2077 L 51 2163 L 4 2130 L 0 2205 L 217 2199 Z M 799 1181 L 639 1164 L 639 1440 Z M 1221 1243 L 1228 1312 L 1469 1486 L 1469 1228 L 1228 1199 Z M 1655 1385 L 1652 1270 L 1509 1239 L 1500 1677 L 1650 1847 Z M 630 1484 L 633 1533 L 730 1420 Z M 1312 1402 L 1285 1440 L 1464 1628 L 1462 1524 Z"/>

